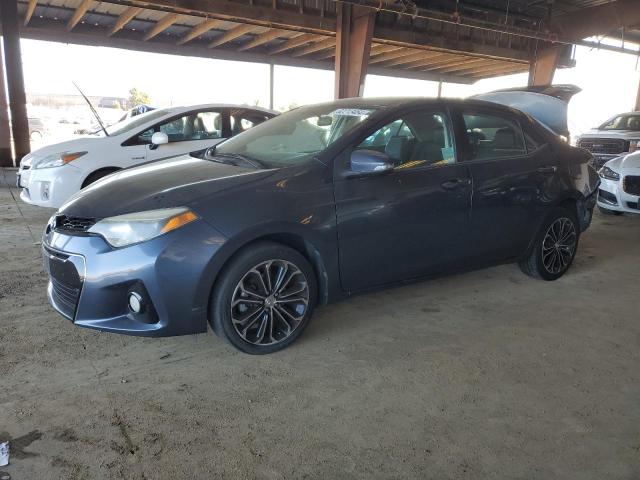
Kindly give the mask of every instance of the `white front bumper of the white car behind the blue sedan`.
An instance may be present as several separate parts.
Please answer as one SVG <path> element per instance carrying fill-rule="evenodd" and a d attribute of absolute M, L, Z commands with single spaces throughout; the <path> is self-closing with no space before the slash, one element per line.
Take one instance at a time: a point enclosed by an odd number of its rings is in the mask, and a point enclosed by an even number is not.
<path fill-rule="evenodd" d="M 16 184 L 20 198 L 40 207 L 59 208 L 71 195 L 80 190 L 84 174 L 73 165 L 53 168 L 18 170 Z"/>

